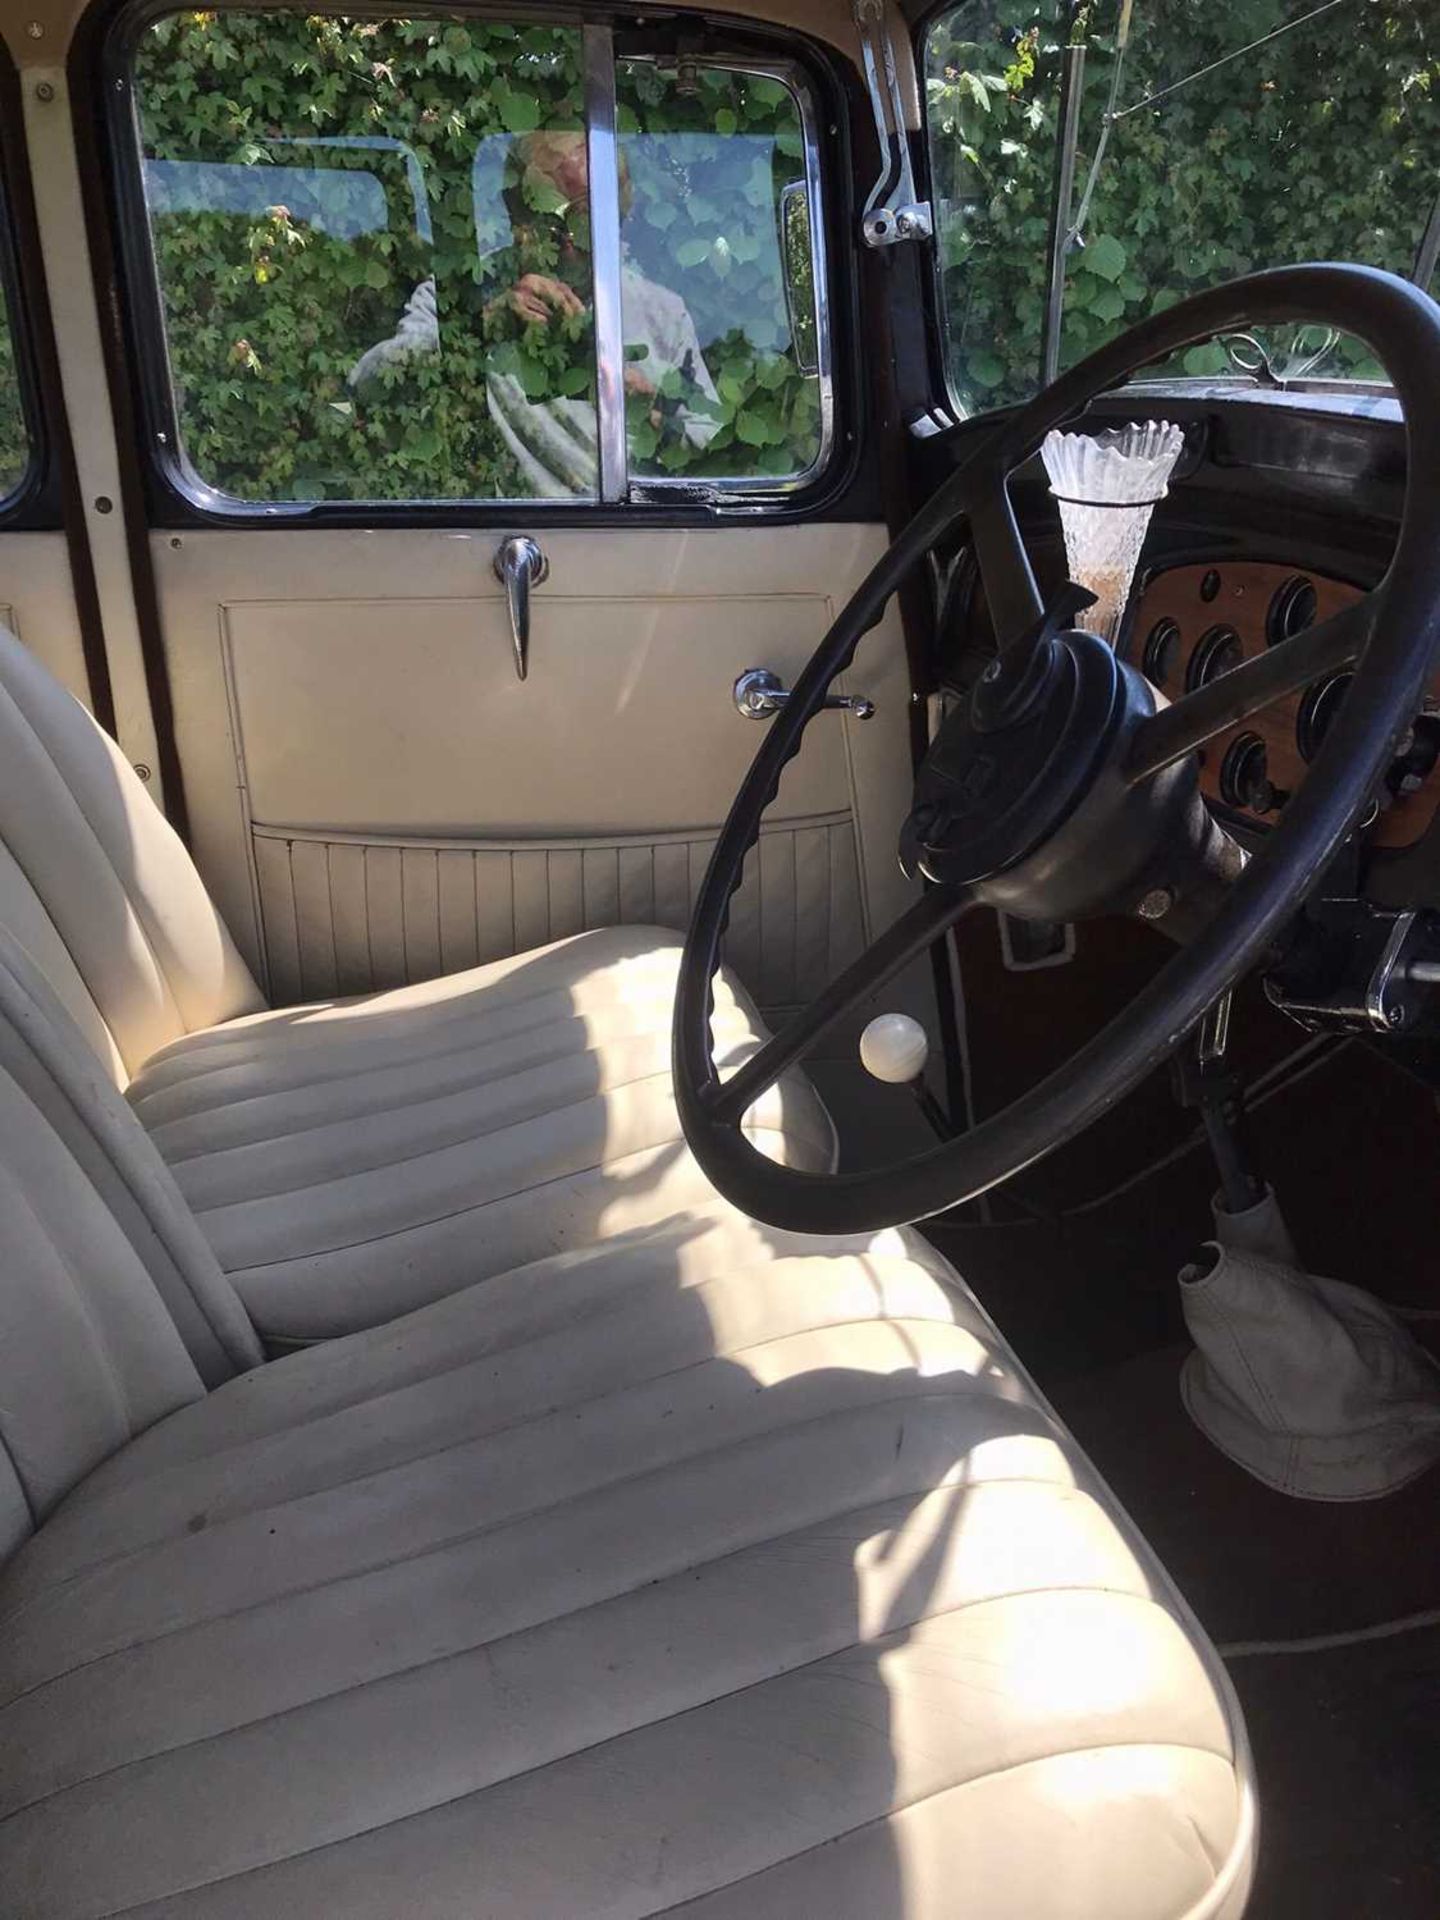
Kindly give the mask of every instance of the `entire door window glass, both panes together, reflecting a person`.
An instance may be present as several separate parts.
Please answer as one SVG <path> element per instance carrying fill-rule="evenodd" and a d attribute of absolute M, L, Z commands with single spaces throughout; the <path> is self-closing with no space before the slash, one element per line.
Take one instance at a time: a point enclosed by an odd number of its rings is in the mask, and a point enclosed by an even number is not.
<path fill-rule="evenodd" d="M 144 29 L 132 81 L 159 399 L 202 503 L 618 501 L 822 463 L 797 79 L 616 61 L 603 29 L 217 12 Z M 591 248 L 616 204 L 618 253 Z"/>

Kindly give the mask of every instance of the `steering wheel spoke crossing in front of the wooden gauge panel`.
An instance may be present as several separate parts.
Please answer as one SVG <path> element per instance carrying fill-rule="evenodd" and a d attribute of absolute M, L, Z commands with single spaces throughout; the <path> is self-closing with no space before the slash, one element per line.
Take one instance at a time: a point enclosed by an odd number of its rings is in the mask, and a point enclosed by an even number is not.
<path fill-rule="evenodd" d="M 1152 720 L 1135 730 L 1125 756 L 1125 780 L 1133 787 L 1150 780 L 1263 707 L 1350 666 L 1365 651 L 1380 611 L 1380 595 L 1382 589 L 1377 588 L 1319 626 L 1221 674 L 1210 685 L 1196 687 L 1173 707 L 1162 707 Z"/>

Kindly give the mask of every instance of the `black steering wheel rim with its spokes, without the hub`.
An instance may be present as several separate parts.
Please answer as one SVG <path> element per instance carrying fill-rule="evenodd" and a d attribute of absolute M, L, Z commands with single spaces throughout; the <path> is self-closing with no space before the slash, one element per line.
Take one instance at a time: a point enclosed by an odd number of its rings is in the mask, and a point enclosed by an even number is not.
<path fill-rule="evenodd" d="M 1379 355 L 1400 399 L 1409 453 L 1400 538 L 1384 578 L 1357 607 L 1175 707 L 1156 712 L 1152 703 L 1150 714 L 1119 739 L 1102 778 L 1119 778 L 1131 787 L 1179 774 L 1192 780 L 1192 749 L 1202 739 L 1269 705 L 1296 680 L 1306 684 L 1354 660 L 1354 680 L 1304 785 L 1194 939 L 1169 956 L 1123 1016 L 1010 1106 L 954 1140 L 885 1167 L 808 1173 L 780 1165 L 745 1137 L 749 1102 L 774 1085 L 818 1033 L 943 937 L 975 900 L 970 887 L 927 889 L 755 1060 L 720 1079 L 710 1012 L 730 900 L 760 818 L 808 722 L 829 684 L 851 664 L 862 636 L 881 618 L 891 593 L 960 518 L 970 520 L 1000 639 L 1002 672 L 993 678 L 1004 685 L 993 691 L 1023 697 L 1020 682 L 1037 657 L 1043 609 L 1004 482 L 1050 428 L 1075 419 L 1129 372 L 1242 323 L 1336 326 Z M 1409 280 L 1375 269 L 1284 267 L 1198 294 L 1100 348 L 1000 422 L 931 495 L 860 584 L 770 722 L 695 902 L 676 996 L 674 1087 L 685 1140 L 728 1200 L 789 1231 L 866 1233 L 975 1198 L 1108 1112 L 1254 966 L 1350 833 L 1425 689 L 1440 639 L 1440 470 L 1427 468 L 1427 445 L 1440 445 L 1440 307 Z M 1133 674 L 1125 666 L 1117 672 Z"/>

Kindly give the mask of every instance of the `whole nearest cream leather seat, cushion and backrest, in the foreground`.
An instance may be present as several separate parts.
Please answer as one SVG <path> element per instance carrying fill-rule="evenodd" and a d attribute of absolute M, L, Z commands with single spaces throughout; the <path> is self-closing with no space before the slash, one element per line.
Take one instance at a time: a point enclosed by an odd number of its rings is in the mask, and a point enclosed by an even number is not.
<path fill-rule="evenodd" d="M 695 1208 L 253 1365 L 0 960 L 0 1914 L 1242 1910 L 1223 1668 L 924 1242 Z"/>

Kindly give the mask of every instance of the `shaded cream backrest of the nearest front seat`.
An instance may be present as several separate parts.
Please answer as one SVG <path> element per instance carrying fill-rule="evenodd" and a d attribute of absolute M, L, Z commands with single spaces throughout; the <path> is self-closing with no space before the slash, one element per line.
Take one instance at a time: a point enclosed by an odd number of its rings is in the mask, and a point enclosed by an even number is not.
<path fill-rule="evenodd" d="M 144 1127 L 0 929 L 0 1561 L 102 1459 L 261 1357 Z"/>

